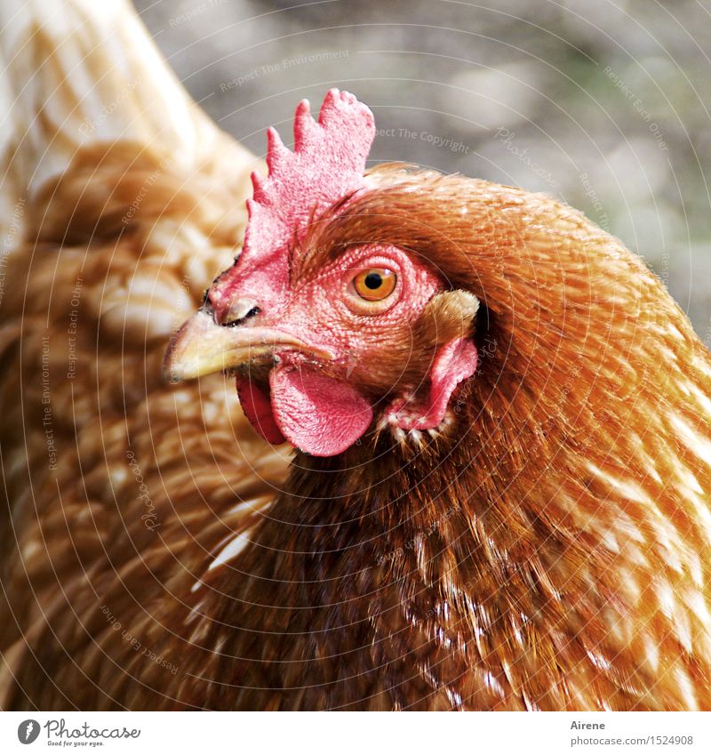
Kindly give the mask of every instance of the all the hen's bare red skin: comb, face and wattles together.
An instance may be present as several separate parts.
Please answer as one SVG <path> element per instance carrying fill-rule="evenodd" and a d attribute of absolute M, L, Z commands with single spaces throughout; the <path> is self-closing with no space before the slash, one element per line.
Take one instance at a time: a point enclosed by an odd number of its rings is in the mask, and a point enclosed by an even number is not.
<path fill-rule="evenodd" d="M 446 287 L 401 248 L 356 246 L 292 279 L 294 238 L 303 241 L 310 221 L 366 188 L 363 170 L 374 135 L 370 110 L 338 90 L 326 95 L 317 122 L 308 102 L 300 103 L 293 151 L 270 130 L 269 174 L 252 176 L 243 253 L 208 297 L 216 322 L 234 326 L 236 336 L 243 327 L 270 329 L 260 353 L 240 368 L 240 400 L 264 438 L 288 438 L 310 454 L 344 451 L 376 413 L 401 430 L 435 428 L 451 391 L 476 366 L 474 344 L 457 339 L 428 357 L 427 370 L 416 378 L 420 385 L 410 385 L 408 395 L 401 389 L 418 347 L 414 328 L 427 302 Z M 297 245 L 297 253 L 308 251 Z M 368 269 L 395 273 L 395 287 L 382 301 L 365 301 L 354 288 L 354 278 Z M 288 334 L 291 344 L 276 343 L 275 330 Z M 294 348 L 294 338 L 303 348 Z M 413 391 L 428 396 L 415 406 Z"/>

